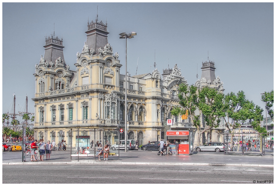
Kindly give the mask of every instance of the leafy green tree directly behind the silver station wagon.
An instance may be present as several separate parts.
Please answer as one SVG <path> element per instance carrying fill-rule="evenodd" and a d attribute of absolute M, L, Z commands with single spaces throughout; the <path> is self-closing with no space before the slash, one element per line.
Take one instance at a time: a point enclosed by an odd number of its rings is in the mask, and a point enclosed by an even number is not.
<path fill-rule="evenodd" d="M 204 123 L 210 129 L 210 140 L 212 139 L 212 129 L 217 128 L 220 118 L 225 115 L 223 110 L 223 93 L 218 92 L 214 88 L 203 87 L 198 92 L 199 103 L 198 108 L 204 114 Z"/>

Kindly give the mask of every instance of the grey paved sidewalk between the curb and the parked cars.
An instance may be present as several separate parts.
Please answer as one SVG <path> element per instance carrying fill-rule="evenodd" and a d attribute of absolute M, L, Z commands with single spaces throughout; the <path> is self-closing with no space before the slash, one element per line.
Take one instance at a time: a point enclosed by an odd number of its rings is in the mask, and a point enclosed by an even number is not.
<path fill-rule="evenodd" d="M 117 151 L 110 151 L 116 152 Z M 72 154 L 74 151 L 72 150 Z M 192 155 L 170 155 L 158 156 L 158 151 L 120 151 L 119 156 L 108 156 L 108 161 L 101 161 L 98 157 L 88 156 L 77 157 L 72 156 L 70 159 L 69 151 L 52 151 L 50 160 L 46 161 L 30 161 L 30 155 L 26 157 L 26 162 L 22 162 L 22 152 L 3 152 L 2 165 L 29 165 L 29 164 L 134 164 L 134 165 L 211 165 L 211 166 L 258 166 L 258 167 L 274 167 L 272 155 L 266 156 L 242 156 L 242 155 L 224 155 L 223 152 L 194 152 Z M 94 152 L 91 152 L 94 154 Z"/>

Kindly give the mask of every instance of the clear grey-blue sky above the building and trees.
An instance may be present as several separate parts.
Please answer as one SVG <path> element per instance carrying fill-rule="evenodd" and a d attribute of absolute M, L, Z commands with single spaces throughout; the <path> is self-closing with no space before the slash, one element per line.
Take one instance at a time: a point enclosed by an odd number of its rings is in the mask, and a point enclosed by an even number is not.
<path fill-rule="evenodd" d="M 26 94 L 34 111 L 35 64 L 44 56 L 45 34 L 54 31 L 54 23 L 55 36 L 63 37 L 65 62 L 76 69 L 76 53 L 97 5 L 98 19 L 107 20 L 108 42 L 120 55 L 121 74 L 125 40 L 119 33 L 137 32 L 128 40 L 131 76 L 139 57 L 137 75 L 152 72 L 154 62 L 161 74 L 177 63 L 187 83 L 194 84 L 209 53 L 224 93 L 244 90 L 265 110 L 260 93 L 273 89 L 273 3 L 3 3 L 3 113 L 11 109 L 13 93 L 16 111 Z"/>

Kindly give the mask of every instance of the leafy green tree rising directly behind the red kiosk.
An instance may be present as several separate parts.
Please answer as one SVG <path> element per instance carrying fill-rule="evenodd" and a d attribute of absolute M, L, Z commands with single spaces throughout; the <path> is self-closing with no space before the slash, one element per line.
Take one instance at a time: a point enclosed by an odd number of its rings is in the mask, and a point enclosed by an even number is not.
<path fill-rule="evenodd" d="M 200 128 L 199 115 L 195 114 L 195 110 L 198 107 L 197 87 L 193 85 L 187 86 L 186 84 L 182 83 L 179 84 L 178 92 L 178 98 L 180 100 L 179 104 L 181 107 L 173 107 L 171 113 L 175 116 L 178 114 L 183 115 L 186 114 L 186 111 L 188 110 L 188 117 L 190 117 L 191 123 L 197 129 L 197 143 L 199 144 L 200 136 L 205 130 L 202 132 Z"/>

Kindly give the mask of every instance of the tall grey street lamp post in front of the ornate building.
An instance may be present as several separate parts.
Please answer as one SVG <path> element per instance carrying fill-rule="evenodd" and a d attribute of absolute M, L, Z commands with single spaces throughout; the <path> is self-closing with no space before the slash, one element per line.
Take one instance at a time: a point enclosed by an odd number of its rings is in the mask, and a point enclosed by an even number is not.
<path fill-rule="evenodd" d="M 125 32 L 119 34 L 121 35 L 120 39 L 125 39 L 125 152 L 127 152 L 127 139 L 128 139 L 128 125 L 127 125 L 127 57 L 128 57 L 128 38 L 133 38 L 136 35 L 136 32 L 131 32 L 127 34 Z"/>

